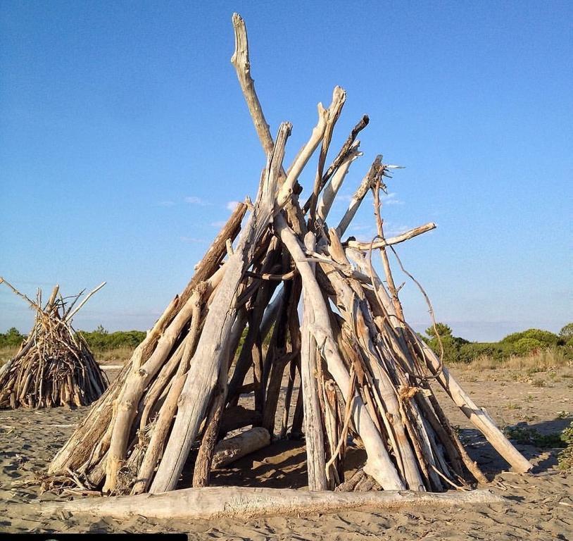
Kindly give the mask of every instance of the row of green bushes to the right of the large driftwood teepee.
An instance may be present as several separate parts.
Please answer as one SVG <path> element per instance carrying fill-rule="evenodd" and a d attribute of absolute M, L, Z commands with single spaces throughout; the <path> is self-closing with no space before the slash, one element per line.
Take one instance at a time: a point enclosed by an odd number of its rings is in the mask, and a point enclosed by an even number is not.
<path fill-rule="evenodd" d="M 468 342 L 453 336 L 451 328 L 444 323 L 437 323 L 436 330 L 441 339 L 443 359 L 446 363 L 470 363 L 481 356 L 503 361 L 511 356 L 525 356 L 548 348 L 560 348 L 566 356 L 573 358 L 573 323 L 565 325 L 558 335 L 548 330 L 527 329 L 513 332 L 499 342 Z M 434 352 L 439 353 L 436 330 L 433 327 L 428 328 L 422 339 Z"/>

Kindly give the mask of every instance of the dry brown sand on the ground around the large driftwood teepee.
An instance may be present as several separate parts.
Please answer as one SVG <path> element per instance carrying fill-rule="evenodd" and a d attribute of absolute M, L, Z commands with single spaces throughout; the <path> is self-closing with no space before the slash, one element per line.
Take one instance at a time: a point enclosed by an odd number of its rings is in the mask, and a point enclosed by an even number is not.
<path fill-rule="evenodd" d="M 570 369 L 558 375 L 538 373 L 522 381 L 516 380 L 523 378 L 515 373 L 500 370 L 458 375 L 476 402 L 500 425 L 527 422 L 541 433 L 553 433 L 571 421 Z M 540 382 L 547 386 L 536 386 Z M 505 504 L 423 512 L 365 509 L 241 523 L 151 521 L 140 516 L 116 521 L 69 514 L 46 518 L 32 514 L 26 502 L 70 496 L 53 492 L 40 495 L 39 487 L 30 483 L 44 473 L 87 408 L 17 410 L 0 411 L 0 532 L 187 532 L 189 539 L 256 540 L 573 540 L 573 478 L 556 468 L 558 449 L 517 445 L 534 463 L 534 475 L 505 471 L 507 466 L 489 444 L 441 398 L 453 423 L 460 426 L 470 454 L 491 479 L 489 487 L 506 498 Z M 279 442 L 219 471 L 214 484 L 302 488 L 306 483 L 305 459 L 301 442 Z M 358 464 L 359 459 L 360 452 L 356 451 L 350 462 Z M 184 478 L 182 486 L 186 482 Z"/>

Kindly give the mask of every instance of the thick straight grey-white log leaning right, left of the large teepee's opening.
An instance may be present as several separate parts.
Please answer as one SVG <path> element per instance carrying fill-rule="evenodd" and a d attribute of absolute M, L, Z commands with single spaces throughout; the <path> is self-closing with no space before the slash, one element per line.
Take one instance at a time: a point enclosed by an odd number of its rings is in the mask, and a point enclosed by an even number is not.
<path fill-rule="evenodd" d="M 277 144 L 267 158 L 266 173 L 258 190 L 253 213 L 241 233 L 234 254 L 225 263 L 227 271 L 206 316 L 180 396 L 177 417 L 150 492 L 165 492 L 175 488 L 191 444 L 199 432 L 224 356 L 228 354 L 229 335 L 237 314 L 235 301 L 243 273 L 272 218 L 284 147 L 290 132 L 289 123 L 283 123 L 279 128 Z"/>

